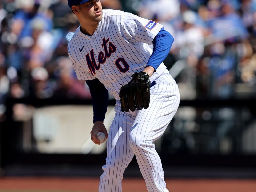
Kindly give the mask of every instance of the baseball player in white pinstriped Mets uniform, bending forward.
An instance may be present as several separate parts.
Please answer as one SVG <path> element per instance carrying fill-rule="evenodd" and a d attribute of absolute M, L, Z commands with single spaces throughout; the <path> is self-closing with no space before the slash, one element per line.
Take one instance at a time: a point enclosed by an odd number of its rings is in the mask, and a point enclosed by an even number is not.
<path fill-rule="evenodd" d="M 108 136 L 99 191 L 122 191 L 123 173 L 134 155 L 148 191 L 168 191 L 153 141 L 164 133 L 180 101 L 178 86 L 163 64 L 172 35 L 155 21 L 102 10 L 99 0 L 68 0 L 68 5 L 81 24 L 68 53 L 92 95 L 91 139 L 100 144 L 97 133 Z M 109 133 L 103 124 L 108 92 L 116 99 Z"/>

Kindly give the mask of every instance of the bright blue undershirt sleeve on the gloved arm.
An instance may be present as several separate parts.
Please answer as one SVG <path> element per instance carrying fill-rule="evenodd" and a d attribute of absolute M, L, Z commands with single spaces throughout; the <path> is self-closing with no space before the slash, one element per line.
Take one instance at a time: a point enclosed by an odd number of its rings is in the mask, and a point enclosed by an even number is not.
<path fill-rule="evenodd" d="M 153 53 L 146 66 L 152 66 L 156 71 L 169 54 L 173 42 L 173 36 L 162 28 L 153 40 Z"/>

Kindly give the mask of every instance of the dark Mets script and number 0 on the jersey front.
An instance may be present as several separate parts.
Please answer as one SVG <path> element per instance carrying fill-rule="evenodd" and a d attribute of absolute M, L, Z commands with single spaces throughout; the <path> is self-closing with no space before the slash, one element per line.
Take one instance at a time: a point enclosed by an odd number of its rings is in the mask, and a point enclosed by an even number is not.
<path fill-rule="evenodd" d="M 96 63 L 96 60 L 94 57 L 93 49 L 90 51 L 90 55 L 88 53 L 85 56 L 86 62 L 87 62 L 88 68 L 89 68 L 89 73 L 91 73 L 93 76 L 96 74 L 96 70 L 100 69 L 100 64 L 104 64 L 106 62 L 107 58 L 109 58 L 112 55 L 112 53 L 116 52 L 116 46 L 111 41 L 109 41 L 109 38 L 107 40 L 106 40 L 106 38 L 102 39 L 101 46 L 103 47 L 104 52 L 102 52 L 102 51 L 99 52 L 97 63 Z M 123 57 L 117 58 L 115 65 L 119 69 L 119 71 L 122 73 L 125 73 L 129 70 L 129 65 L 124 60 Z"/>

